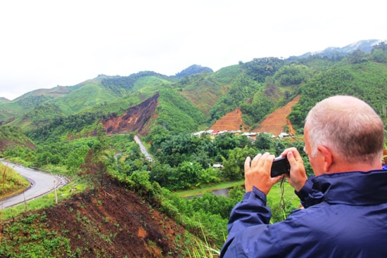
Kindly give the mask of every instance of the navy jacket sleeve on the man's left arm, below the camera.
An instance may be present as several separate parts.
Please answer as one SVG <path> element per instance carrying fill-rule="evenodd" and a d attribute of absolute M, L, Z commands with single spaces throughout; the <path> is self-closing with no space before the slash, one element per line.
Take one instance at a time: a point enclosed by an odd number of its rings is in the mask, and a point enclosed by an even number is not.
<path fill-rule="evenodd" d="M 265 193 L 253 187 L 253 191 L 245 193 L 243 200 L 232 209 L 227 226 L 229 236 L 222 247 L 220 258 L 225 257 L 227 248 L 233 242 L 234 238 L 240 233 L 243 233 L 246 228 L 259 224 L 269 224 L 272 212 L 266 206 L 266 201 Z M 233 253 L 234 251 L 232 250 Z"/>

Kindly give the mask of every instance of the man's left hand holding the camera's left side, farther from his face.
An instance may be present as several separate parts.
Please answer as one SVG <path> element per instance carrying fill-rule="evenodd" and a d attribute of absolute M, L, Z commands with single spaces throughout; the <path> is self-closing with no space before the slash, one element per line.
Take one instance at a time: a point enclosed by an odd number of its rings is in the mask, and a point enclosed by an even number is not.
<path fill-rule="evenodd" d="M 253 160 L 246 157 L 245 160 L 245 188 L 246 192 L 253 191 L 253 186 L 260 189 L 262 193 L 269 193 L 274 183 L 279 181 L 282 176 L 271 177 L 270 170 L 274 160 L 274 155 L 269 153 L 258 154 Z"/>

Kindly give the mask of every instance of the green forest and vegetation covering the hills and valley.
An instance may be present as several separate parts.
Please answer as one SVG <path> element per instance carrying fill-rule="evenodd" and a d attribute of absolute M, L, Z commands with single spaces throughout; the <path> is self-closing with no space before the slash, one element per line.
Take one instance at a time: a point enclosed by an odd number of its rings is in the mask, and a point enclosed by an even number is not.
<path fill-rule="evenodd" d="M 185 70 L 172 78 L 154 72 L 99 76 L 93 82 L 72 86 L 73 94 L 84 94 L 84 102 L 80 102 L 82 97 L 72 98 L 70 103 L 66 96 L 58 101 L 53 96 L 27 94 L 18 101 L 0 103 L 1 108 L 8 108 L 0 117 L 1 157 L 62 174 L 89 189 L 103 191 L 110 181 L 118 181 L 207 243 L 204 252 L 216 256 L 227 236 L 229 213 L 244 194 L 243 163 L 247 156 L 264 152 L 277 156 L 284 148 L 294 146 L 302 153 L 307 174 L 311 175 L 303 152 L 303 121 L 310 108 L 327 96 L 358 96 L 387 122 L 387 49 L 383 43 L 369 53 L 286 60 L 254 58 L 217 72 L 196 66 L 191 70 L 199 73 L 190 75 L 190 70 Z M 87 92 L 93 91 L 95 97 L 101 89 L 110 94 L 110 101 L 102 98 L 90 103 Z M 141 137 L 153 156 L 151 161 L 134 142 L 136 131 L 107 135 L 101 121 L 111 114 L 122 115 L 127 110 L 124 107 L 138 105 L 156 92 L 160 94 L 158 107 L 146 124 L 148 134 Z M 288 115 L 297 131 L 291 138 L 259 134 L 252 141 L 243 134 L 215 138 L 193 134 L 236 108 L 241 108 L 243 122 L 253 128 L 298 95 L 300 101 Z M 20 115 L 11 117 L 18 112 Z M 222 164 L 222 168 L 213 167 L 215 164 Z M 238 183 L 228 197 L 206 192 L 201 197 L 179 196 L 184 191 L 227 182 Z M 273 223 L 299 205 L 290 196 L 282 201 L 284 205 L 279 205 L 275 193 L 269 196 Z M 61 240 L 65 238 L 61 235 Z M 1 242 L 4 257 L 23 257 L 20 245 L 9 248 L 5 243 L 9 240 Z M 34 245 L 39 246 L 39 241 Z M 42 248 L 46 247 L 35 249 Z M 87 257 L 90 251 L 68 252 L 72 257 Z M 187 252 L 182 250 L 177 257 L 187 257 Z"/>

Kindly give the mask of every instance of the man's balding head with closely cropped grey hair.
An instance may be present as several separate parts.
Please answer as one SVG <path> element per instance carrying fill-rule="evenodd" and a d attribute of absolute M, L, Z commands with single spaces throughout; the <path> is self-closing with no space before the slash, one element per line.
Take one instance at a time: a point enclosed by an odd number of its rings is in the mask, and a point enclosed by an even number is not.
<path fill-rule="evenodd" d="M 375 164 L 381 162 L 383 143 L 381 118 L 367 103 L 352 96 L 320 101 L 305 120 L 305 148 L 312 158 L 327 150 L 336 161 Z"/>

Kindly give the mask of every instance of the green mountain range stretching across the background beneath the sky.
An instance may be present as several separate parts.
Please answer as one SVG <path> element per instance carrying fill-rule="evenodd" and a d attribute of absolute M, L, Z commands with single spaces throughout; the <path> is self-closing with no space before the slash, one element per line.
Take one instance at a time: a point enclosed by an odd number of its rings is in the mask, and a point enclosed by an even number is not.
<path fill-rule="evenodd" d="M 103 122 L 108 133 L 127 130 L 146 135 L 156 125 L 174 132 L 208 129 L 227 113 L 241 108 L 240 127 L 248 131 L 296 96 L 300 96 L 300 104 L 295 109 L 305 115 L 305 109 L 311 105 L 303 105 L 307 99 L 319 100 L 335 93 L 360 96 L 381 110 L 386 99 L 384 60 L 387 60 L 385 41 L 371 39 L 288 59 L 253 58 L 216 72 L 191 65 L 175 76 L 151 71 L 129 76 L 99 75 L 74 86 L 30 91 L 13 101 L 2 98 L 0 122 L 33 131 L 55 124 L 58 119 L 94 114 L 90 123 Z M 339 79 L 338 84 L 358 80 L 348 88 L 331 85 L 326 77 Z M 316 84 L 333 87 L 336 92 L 329 90 L 309 96 Z M 374 91 L 369 91 L 370 84 L 374 85 Z M 381 99 L 375 100 L 374 94 Z M 148 109 L 140 108 L 144 106 Z M 136 112 L 137 115 L 129 115 Z M 302 126 L 297 115 L 297 112 L 291 115 L 296 129 Z M 138 124 L 123 125 L 124 121 Z M 86 126 L 80 123 L 80 127 L 72 128 L 72 133 L 84 134 L 81 125 Z"/>

